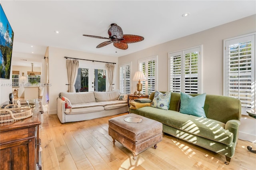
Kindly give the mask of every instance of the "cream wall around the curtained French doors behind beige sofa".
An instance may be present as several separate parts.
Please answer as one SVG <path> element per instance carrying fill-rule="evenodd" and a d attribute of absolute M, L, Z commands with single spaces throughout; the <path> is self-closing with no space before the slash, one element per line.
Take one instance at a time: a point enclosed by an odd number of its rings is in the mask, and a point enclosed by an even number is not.
<path fill-rule="evenodd" d="M 93 53 L 86 53 L 82 51 L 74 51 L 70 49 L 62 49 L 57 47 L 49 47 L 49 114 L 57 114 L 57 102 L 56 99 L 60 92 L 66 92 L 68 90 L 68 75 L 66 69 L 66 59 L 64 57 L 73 57 L 80 59 L 90 59 L 96 61 L 105 61 L 117 63 L 117 57 L 110 57 L 106 55 L 98 55 Z M 79 63 L 85 61 L 79 60 Z M 86 61 L 88 62 L 88 61 Z M 102 65 L 102 63 L 91 62 L 92 65 Z M 118 64 L 115 65 L 115 80 L 114 84 L 118 85 Z M 118 86 L 114 86 L 114 89 L 118 89 Z"/>

